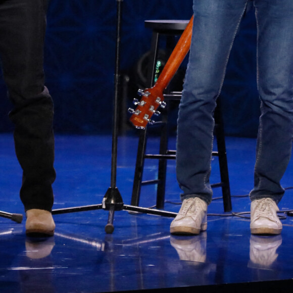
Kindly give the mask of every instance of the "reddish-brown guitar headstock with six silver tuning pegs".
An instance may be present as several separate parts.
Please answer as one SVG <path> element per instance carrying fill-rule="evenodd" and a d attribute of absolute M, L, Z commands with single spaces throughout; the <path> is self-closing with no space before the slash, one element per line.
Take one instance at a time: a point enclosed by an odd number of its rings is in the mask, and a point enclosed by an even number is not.
<path fill-rule="evenodd" d="M 164 101 L 163 92 L 156 88 L 146 88 L 145 90 L 139 89 L 138 94 L 141 96 L 141 100 L 133 100 L 133 104 L 136 105 L 136 109 L 131 108 L 128 111 L 132 114 L 130 122 L 138 129 L 144 129 L 148 123 L 153 124 L 151 120 L 152 116 L 159 115 L 160 112 L 157 109 L 161 106 L 165 108 L 166 103 Z"/>

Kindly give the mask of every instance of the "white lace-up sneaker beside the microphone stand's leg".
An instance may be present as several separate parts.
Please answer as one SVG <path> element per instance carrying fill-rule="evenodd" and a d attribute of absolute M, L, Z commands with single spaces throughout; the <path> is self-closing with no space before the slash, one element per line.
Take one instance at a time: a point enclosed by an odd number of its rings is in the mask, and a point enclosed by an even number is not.
<path fill-rule="evenodd" d="M 207 230 L 207 204 L 199 198 L 183 201 L 176 218 L 171 222 L 172 234 L 193 234 Z"/>

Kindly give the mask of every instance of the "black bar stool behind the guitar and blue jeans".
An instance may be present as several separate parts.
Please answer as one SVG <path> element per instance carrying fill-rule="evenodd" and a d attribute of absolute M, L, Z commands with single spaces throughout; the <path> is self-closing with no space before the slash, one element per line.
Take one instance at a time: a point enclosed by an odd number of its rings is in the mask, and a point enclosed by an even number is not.
<path fill-rule="evenodd" d="M 167 50 L 172 51 L 170 47 L 172 40 L 175 36 L 181 35 L 185 27 L 188 24 L 188 20 L 147 20 L 144 22 L 146 28 L 152 29 L 152 43 L 151 52 L 148 67 L 148 87 L 152 87 L 155 83 L 154 77 L 156 73 L 156 65 L 159 52 L 159 41 L 162 36 L 166 37 Z M 173 41 L 174 43 L 174 41 Z M 163 209 L 165 203 L 165 186 L 166 186 L 166 172 L 167 172 L 167 160 L 176 159 L 176 151 L 168 150 L 168 106 L 169 101 L 179 101 L 181 99 L 181 91 L 168 91 L 164 93 L 164 99 L 167 102 L 167 110 L 162 113 L 162 121 L 155 122 L 159 124 L 161 129 L 160 135 L 160 148 L 159 154 L 146 154 L 147 132 L 148 127 L 144 130 L 140 130 L 138 139 L 138 149 L 136 156 L 135 172 L 133 179 L 133 188 L 131 196 L 131 205 L 139 206 L 141 186 L 157 184 L 157 201 L 156 208 Z M 221 187 L 223 194 L 224 211 L 229 212 L 232 210 L 230 184 L 228 175 L 228 165 L 226 156 L 226 146 L 224 138 L 224 129 L 222 122 L 222 115 L 220 110 L 220 101 L 218 99 L 217 107 L 214 114 L 215 119 L 215 136 L 217 140 L 217 152 L 213 152 L 213 156 L 217 156 L 219 160 L 220 178 L 221 182 L 211 184 L 212 187 Z M 143 167 L 145 159 L 159 160 L 158 164 L 158 178 L 148 181 L 142 181 Z"/>

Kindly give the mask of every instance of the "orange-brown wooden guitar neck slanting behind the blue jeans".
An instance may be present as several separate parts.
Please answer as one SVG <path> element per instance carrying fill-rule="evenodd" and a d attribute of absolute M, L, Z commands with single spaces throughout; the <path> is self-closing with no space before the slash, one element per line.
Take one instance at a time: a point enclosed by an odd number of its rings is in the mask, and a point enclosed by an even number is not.
<path fill-rule="evenodd" d="M 168 86 L 169 82 L 171 81 L 172 77 L 178 70 L 180 64 L 182 63 L 186 54 L 189 51 L 192 35 L 192 24 L 193 16 L 189 20 L 185 30 L 179 38 L 172 54 L 170 55 L 155 84 L 155 87 L 157 87 L 161 91 L 164 91 L 165 88 Z"/>

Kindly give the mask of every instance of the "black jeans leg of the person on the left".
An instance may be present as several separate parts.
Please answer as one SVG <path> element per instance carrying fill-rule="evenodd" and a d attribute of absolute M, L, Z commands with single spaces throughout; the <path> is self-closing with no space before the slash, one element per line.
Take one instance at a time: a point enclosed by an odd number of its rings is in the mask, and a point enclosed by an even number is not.
<path fill-rule="evenodd" d="M 52 210 L 54 105 L 44 86 L 46 0 L 0 0 L 0 55 L 13 110 L 14 140 L 23 169 L 25 211 Z"/>

